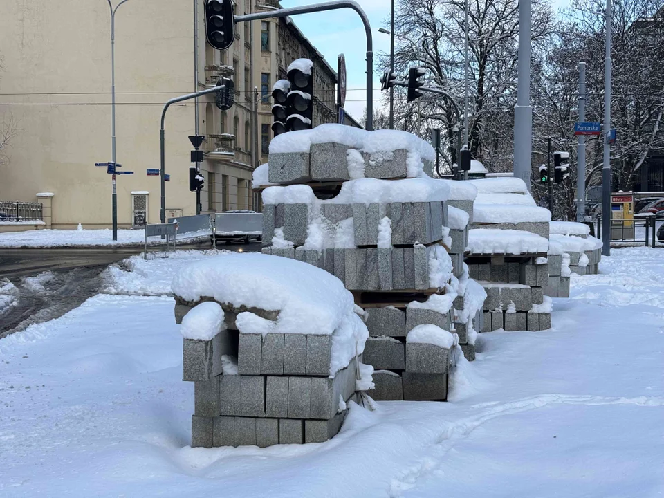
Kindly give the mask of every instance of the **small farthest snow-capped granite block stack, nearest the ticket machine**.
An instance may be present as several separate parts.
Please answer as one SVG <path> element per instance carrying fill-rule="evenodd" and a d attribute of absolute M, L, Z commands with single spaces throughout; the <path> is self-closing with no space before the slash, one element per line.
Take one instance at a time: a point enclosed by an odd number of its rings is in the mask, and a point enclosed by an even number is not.
<path fill-rule="evenodd" d="M 569 268 L 578 275 L 596 275 L 602 260 L 602 241 L 591 236 L 590 227 L 575 221 L 551 221 L 551 240 L 569 255 Z M 563 297 L 563 296 L 560 296 Z"/>

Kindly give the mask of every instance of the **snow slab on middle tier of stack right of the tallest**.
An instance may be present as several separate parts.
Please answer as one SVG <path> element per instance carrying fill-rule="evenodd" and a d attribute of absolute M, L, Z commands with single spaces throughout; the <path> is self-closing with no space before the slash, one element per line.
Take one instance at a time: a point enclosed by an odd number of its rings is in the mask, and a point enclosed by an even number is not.
<path fill-rule="evenodd" d="M 547 252 L 548 240 L 524 230 L 474 228 L 468 230 L 468 247 L 473 254 L 533 254 Z"/>

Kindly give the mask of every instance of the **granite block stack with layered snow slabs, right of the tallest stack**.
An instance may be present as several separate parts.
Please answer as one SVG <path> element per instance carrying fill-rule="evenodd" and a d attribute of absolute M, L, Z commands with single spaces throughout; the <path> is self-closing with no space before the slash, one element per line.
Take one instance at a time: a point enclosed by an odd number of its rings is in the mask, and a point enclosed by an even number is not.
<path fill-rule="evenodd" d="M 551 328 L 548 222 L 519 178 L 470 181 L 477 187 L 466 258 L 470 277 L 486 291 L 482 332 Z"/>

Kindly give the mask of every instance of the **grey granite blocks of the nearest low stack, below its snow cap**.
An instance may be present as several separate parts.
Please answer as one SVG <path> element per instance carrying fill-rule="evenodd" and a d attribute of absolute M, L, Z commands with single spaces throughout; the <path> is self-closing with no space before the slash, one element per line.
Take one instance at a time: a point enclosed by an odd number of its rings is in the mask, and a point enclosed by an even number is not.
<path fill-rule="evenodd" d="M 204 312 L 210 305 L 221 318 L 205 335 L 199 331 L 208 326 Z M 237 324 L 241 313 L 256 315 L 250 326 Z M 358 344 L 350 345 L 356 356 L 331 374 L 340 346 L 335 342 L 352 340 L 348 333 L 265 333 L 261 323 L 274 323 L 278 312 L 212 297 L 190 302 L 176 294 L 175 315 L 185 336 L 183 380 L 194 382 L 192 447 L 327 441 L 339 432 L 346 404 L 361 402 L 358 382 L 367 373 Z"/>

